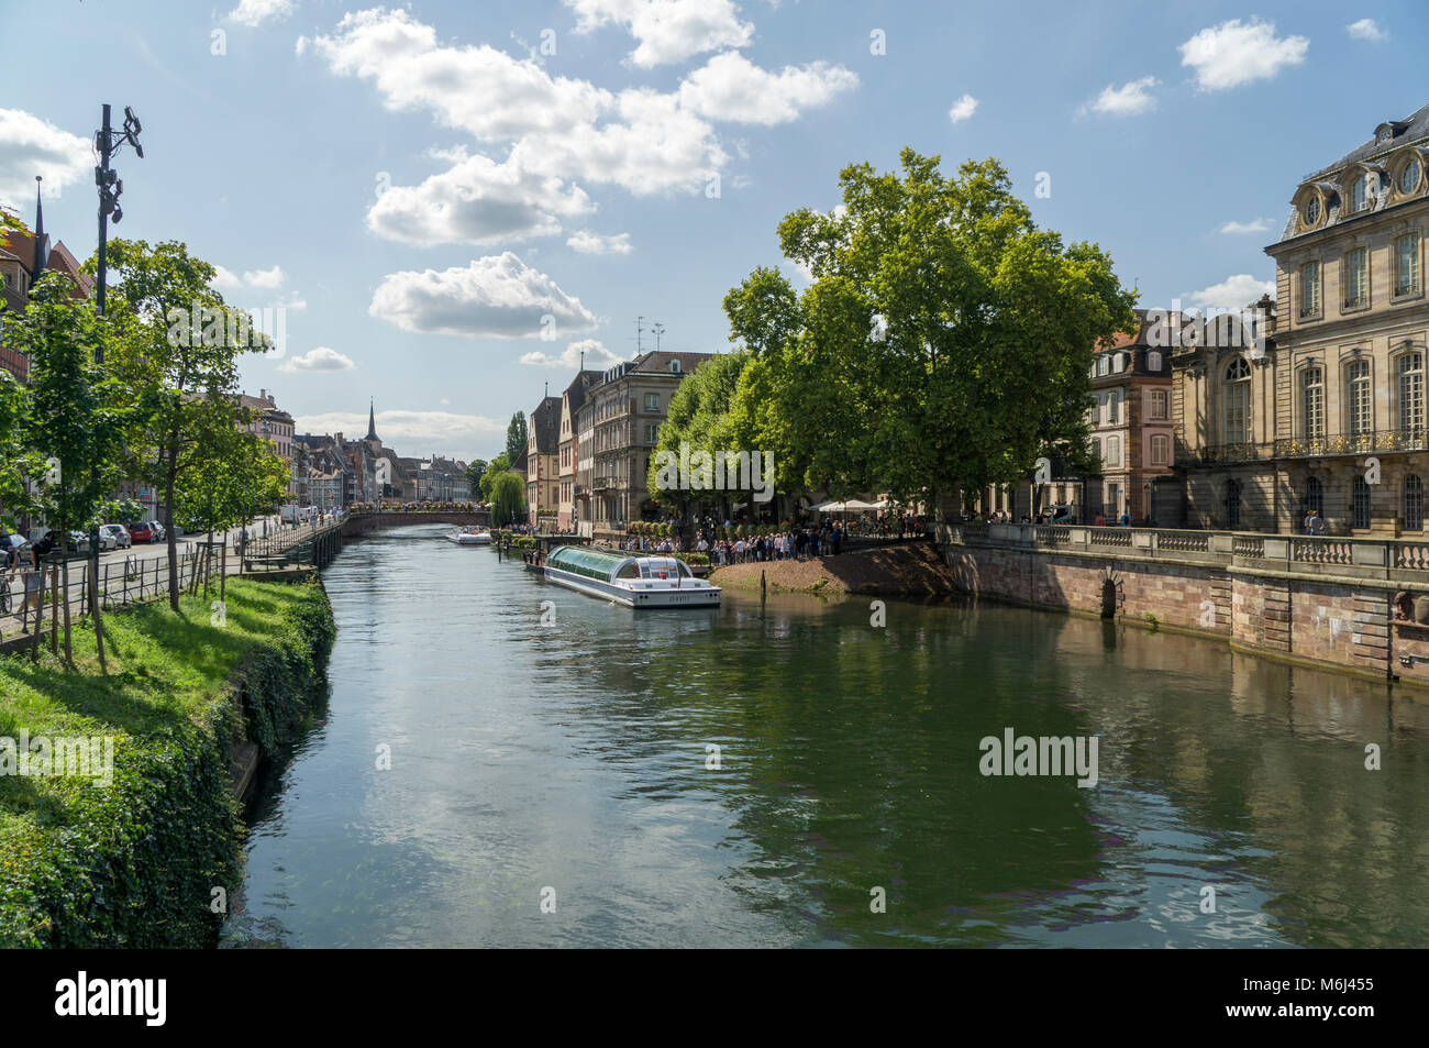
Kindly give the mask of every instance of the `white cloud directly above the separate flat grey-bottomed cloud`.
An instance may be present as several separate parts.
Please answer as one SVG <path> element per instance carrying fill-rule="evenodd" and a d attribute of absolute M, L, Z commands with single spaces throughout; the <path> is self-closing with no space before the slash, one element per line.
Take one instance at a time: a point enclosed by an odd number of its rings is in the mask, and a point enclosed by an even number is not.
<path fill-rule="evenodd" d="M 389 240 L 426 247 L 492 244 L 553 236 L 560 220 L 594 204 L 579 186 L 463 150 L 437 154 L 454 166 L 420 186 L 393 186 L 367 212 L 367 227 Z"/>

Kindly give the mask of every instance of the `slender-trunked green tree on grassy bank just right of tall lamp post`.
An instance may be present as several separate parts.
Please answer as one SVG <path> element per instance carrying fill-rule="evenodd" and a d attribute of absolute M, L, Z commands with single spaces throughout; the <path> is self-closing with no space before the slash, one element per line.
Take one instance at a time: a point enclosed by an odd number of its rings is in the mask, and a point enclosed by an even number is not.
<path fill-rule="evenodd" d="M 84 263 L 93 272 L 94 259 Z M 171 525 L 181 473 L 197 460 L 191 446 L 201 439 L 200 417 L 211 419 L 206 399 L 227 395 L 229 425 L 237 423 L 239 357 L 262 352 L 269 340 L 242 310 L 229 310 L 210 286 L 214 269 L 174 240 L 150 247 L 143 240 L 109 243 L 116 283 L 110 315 L 121 335 L 106 365 L 140 390 L 147 420 L 143 448 L 150 456 L 146 479 L 163 490 L 164 518 Z M 179 548 L 169 528 L 169 603 L 179 610 Z"/>

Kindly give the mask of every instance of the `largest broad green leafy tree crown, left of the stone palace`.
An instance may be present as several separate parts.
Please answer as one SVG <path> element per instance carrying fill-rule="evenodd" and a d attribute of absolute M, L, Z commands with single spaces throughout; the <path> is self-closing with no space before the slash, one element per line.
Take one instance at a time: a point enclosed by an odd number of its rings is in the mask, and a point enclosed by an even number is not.
<path fill-rule="evenodd" d="M 1086 443 L 1093 350 L 1135 330 L 1135 292 L 1096 244 L 1037 229 L 999 162 L 937 167 L 910 149 L 900 174 L 846 167 L 843 209 L 779 224 L 813 285 L 759 269 L 726 296 L 755 355 L 732 425 L 777 482 L 942 510 Z"/>

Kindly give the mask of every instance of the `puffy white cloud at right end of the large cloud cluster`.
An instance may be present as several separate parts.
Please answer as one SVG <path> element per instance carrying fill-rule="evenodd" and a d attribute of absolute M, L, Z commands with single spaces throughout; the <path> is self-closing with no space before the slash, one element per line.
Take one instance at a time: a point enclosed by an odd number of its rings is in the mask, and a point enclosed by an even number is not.
<path fill-rule="evenodd" d="M 680 84 L 680 106 L 710 120 L 782 124 L 799 119 L 802 110 L 825 106 L 857 86 L 857 74 L 827 61 L 785 66 L 779 73 L 770 73 L 737 51 L 726 51 L 716 54 Z"/>

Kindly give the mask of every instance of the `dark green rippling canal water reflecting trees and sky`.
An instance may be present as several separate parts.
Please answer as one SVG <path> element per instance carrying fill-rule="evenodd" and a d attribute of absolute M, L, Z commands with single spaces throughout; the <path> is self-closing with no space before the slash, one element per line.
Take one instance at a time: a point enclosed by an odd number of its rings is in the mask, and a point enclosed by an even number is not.
<path fill-rule="evenodd" d="M 330 706 L 224 945 L 1429 942 L 1412 689 L 989 603 L 634 613 L 443 530 L 324 572 Z M 1007 729 L 1096 785 L 983 775 Z"/>

